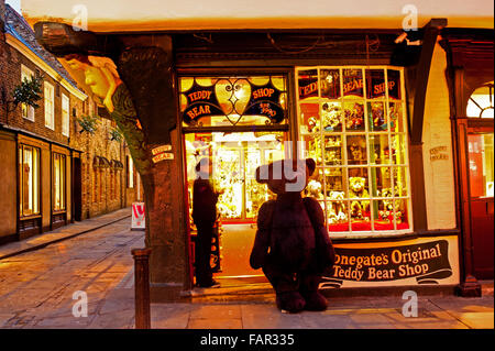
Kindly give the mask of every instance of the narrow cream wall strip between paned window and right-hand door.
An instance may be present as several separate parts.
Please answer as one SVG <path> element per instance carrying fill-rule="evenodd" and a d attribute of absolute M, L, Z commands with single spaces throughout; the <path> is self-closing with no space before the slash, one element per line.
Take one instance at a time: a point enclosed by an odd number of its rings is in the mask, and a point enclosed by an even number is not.
<path fill-rule="evenodd" d="M 450 128 L 449 87 L 446 80 L 446 52 L 437 43 L 431 61 L 425 105 L 424 160 L 428 229 L 455 228 L 455 188 Z M 431 160 L 431 150 L 447 160 Z"/>

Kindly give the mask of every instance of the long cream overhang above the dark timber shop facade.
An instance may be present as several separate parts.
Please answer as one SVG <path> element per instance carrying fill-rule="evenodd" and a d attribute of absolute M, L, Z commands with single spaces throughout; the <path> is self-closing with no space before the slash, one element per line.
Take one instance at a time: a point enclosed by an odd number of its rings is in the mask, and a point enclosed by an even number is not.
<path fill-rule="evenodd" d="M 409 3 L 418 28 L 433 18 L 447 18 L 450 28 L 494 28 L 487 0 L 22 0 L 22 12 L 31 25 L 54 19 L 78 25 L 87 19 L 94 32 L 400 29 Z"/>

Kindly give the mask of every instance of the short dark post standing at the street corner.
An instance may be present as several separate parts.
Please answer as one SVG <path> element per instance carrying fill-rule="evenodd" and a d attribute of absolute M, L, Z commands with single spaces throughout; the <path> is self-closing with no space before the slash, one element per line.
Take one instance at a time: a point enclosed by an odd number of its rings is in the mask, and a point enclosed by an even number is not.
<path fill-rule="evenodd" d="M 150 254 L 151 249 L 134 249 L 135 329 L 151 329 Z"/>

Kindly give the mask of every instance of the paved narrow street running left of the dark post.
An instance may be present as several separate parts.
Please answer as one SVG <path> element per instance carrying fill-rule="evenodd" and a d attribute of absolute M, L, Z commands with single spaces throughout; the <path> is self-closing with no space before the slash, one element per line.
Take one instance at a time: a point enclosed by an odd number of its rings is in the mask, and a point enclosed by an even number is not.
<path fill-rule="evenodd" d="M 144 232 L 130 228 L 125 218 L 0 260 L 0 328 L 133 328 L 131 250 L 144 245 Z M 87 294 L 86 318 L 73 315 L 76 292 Z M 125 296 L 116 305 L 109 294 Z"/>

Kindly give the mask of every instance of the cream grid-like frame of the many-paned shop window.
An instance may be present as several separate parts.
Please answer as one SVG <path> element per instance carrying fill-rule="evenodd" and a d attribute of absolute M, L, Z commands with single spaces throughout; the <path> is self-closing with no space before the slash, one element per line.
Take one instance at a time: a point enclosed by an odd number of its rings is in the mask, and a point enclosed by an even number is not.
<path fill-rule="evenodd" d="M 331 69 L 338 69 L 339 70 L 339 84 L 340 84 L 340 96 L 337 99 L 329 99 L 329 98 L 324 98 L 321 96 L 321 84 L 320 84 L 320 72 L 321 70 L 331 70 Z M 345 97 L 343 94 L 343 70 L 344 69 L 361 69 L 362 70 L 362 79 L 363 79 L 363 96 L 362 97 Z M 385 89 L 385 96 L 382 98 L 370 98 L 367 95 L 367 87 L 366 87 L 366 70 L 373 70 L 373 69 L 382 69 L 384 72 L 384 81 L 387 81 L 387 75 L 388 75 L 388 69 L 394 69 L 394 70 L 398 70 L 399 72 L 399 79 L 400 79 L 400 99 L 392 99 L 388 96 L 388 89 Z M 316 70 L 317 72 L 317 84 L 318 84 L 318 95 L 317 97 L 314 97 L 311 99 L 302 99 L 299 100 L 299 72 L 304 72 L 304 70 Z M 324 171 L 326 169 L 331 169 L 331 168 L 355 168 L 355 167 L 363 167 L 367 169 L 367 186 L 369 186 L 369 196 L 367 197 L 363 197 L 363 198 L 359 198 L 359 200 L 364 200 L 364 201 L 381 201 L 381 200 L 389 200 L 392 199 L 394 202 L 396 199 L 399 200 L 405 200 L 406 205 L 407 205 L 407 221 L 408 221 L 408 228 L 407 229 L 397 229 L 397 222 L 394 219 L 393 223 L 394 223 L 394 229 L 392 230 L 377 230 L 375 229 L 374 226 L 374 218 L 373 218 L 373 211 L 371 211 L 371 230 L 366 230 L 366 231 L 361 231 L 361 230 L 352 230 L 352 220 L 351 220 L 351 216 L 350 216 L 350 205 L 353 201 L 352 198 L 350 198 L 349 195 L 349 176 L 345 177 L 345 194 L 346 194 L 346 200 L 345 206 L 348 207 L 348 224 L 349 224 L 349 230 L 348 231 L 329 231 L 329 234 L 331 238 L 333 239 L 371 239 L 371 238 L 381 238 L 381 237 L 403 237 L 406 234 L 410 234 L 414 232 L 414 213 L 413 213 L 413 204 L 411 204 L 411 188 L 410 188 L 410 168 L 409 168 L 409 144 L 408 144 L 408 118 L 407 118 L 407 100 L 406 100 L 406 90 L 405 90 L 405 79 L 404 79 L 404 68 L 403 67 L 398 67 L 398 66 L 391 66 L 391 65 L 339 65 L 339 66 L 327 66 L 327 65 L 321 65 L 321 66 L 296 66 L 295 67 L 295 75 L 294 75 L 294 79 L 295 79 L 295 87 L 296 87 L 296 96 L 295 96 L 295 101 L 296 101 L 296 108 L 297 108 L 297 113 L 295 116 L 295 130 L 297 131 L 297 140 L 300 143 L 304 143 L 304 135 L 318 135 L 320 139 L 320 147 L 323 147 L 324 145 L 324 136 L 337 136 L 337 135 L 342 135 L 342 140 L 345 140 L 346 136 L 349 135 L 354 135 L 354 134 L 359 134 L 359 135 L 365 135 L 365 141 L 366 141 L 366 164 L 363 165 L 349 165 L 346 163 L 346 153 L 348 150 L 345 147 L 345 142 L 344 145 L 342 146 L 343 150 L 343 155 L 342 155 L 342 164 L 341 165 L 326 165 L 324 164 L 324 157 L 323 154 L 322 156 L 322 162 L 321 164 L 317 164 L 317 168 L 322 169 L 323 172 L 323 184 L 322 184 L 322 191 L 323 191 L 323 213 L 324 213 L 324 218 L 326 218 L 326 226 L 327 228 L 329 228 L 329 222 L 328 222 L 328 207 L 327 204 L 330 202 L 330 199 L 327 197 L 327 184 L 326 184 L 326 176 L 324 176 Z M 321 105 L 324 102 L 339 102 L 342 109 L 342 114 L 344 113 L 344 102 L 345 101 L 361 101 L 364 105 L 364 119 L 369 118 L 369 103 L 370 102 L 377 102 L 377 101 L 383 101 L 386 112 L 387 114 L 389 114 L 389 102 L 396 102 L 396 103 L 400 103 L 402 107 L 402 118 L 403 118 L 403 131 L 402 132 L 394 132 L 394 134 L 396 135 L 402 135 L 403 138 L 403 147 L 404 147 L 404 157 L 405 157 L 405 162 L 402 164 L 394 164 L 392 158 L 389 158 L 389 163 L 387 164 L 373 164 L 371 163 L 371 158 L 370 158 L 370 149 L 371 149 L 371 143 L 370 143 L 370 136 L 371 135 L 376 135 L 376 134 L 386 134 L 388 135 L 388 143 L 391 144 L 392 142 L 392 134 L 393 132 L 391 131 L 391 129 L 388 129 L 386 132 L 376 132 L 376 131 L 371 131 L 367 128 L 367 122 L 366 122 L 366 128 L 364 131 L 356 131 L 356 132 L 348 132 L 348 131 L 340 131 L 340 132 L 324 132 L 322 128 L 320 128 L 320 131 L 318 133 L 302 133 L 301 131 L 301 120 L 300 120 L 300 113 L 301 113 L 301 109 L 300 109 L 300 105 L 301 103 L 315 103 L 318 106 L 318 111 L 319 113 L 321 113 Z M 321 116 L 320 116 L 320 121 L 321 121 Z M 342 118 L 342 121 L 344 122 L 344 118 Z M 321 149 L 324 150 L 324 149 Z M 302 150 L 298 143 L 298 155 L 300 157 L 304 157 L 302 155 Z M 345 155 L 344 155 L 345 154 Z M 380 167 L 387 167 L 389 169 L 405 169 L 405 176 L 406 176 L 406 189 L 407 189 L 407 195 L 406 196 L 400 196 L 400 197 L 395 197 L 393 196 L 392 198 L 387 198 L 387 197 L 377 197 L 377 196 L 373 196 L 372 195 L 372 189 L 371 189 L 371 171 L 373 168 L 378 169 Z M 345 172 L 349 175 L 349 172 Z M 392 178 L 394 178 L 392 176 Z M 394 182 L 394 180 L 392 180 Z M 394 188 L 395 184 L 393 183 L 392 188 Z M 393 202 L 393 204 L 394 204 Z"/>

